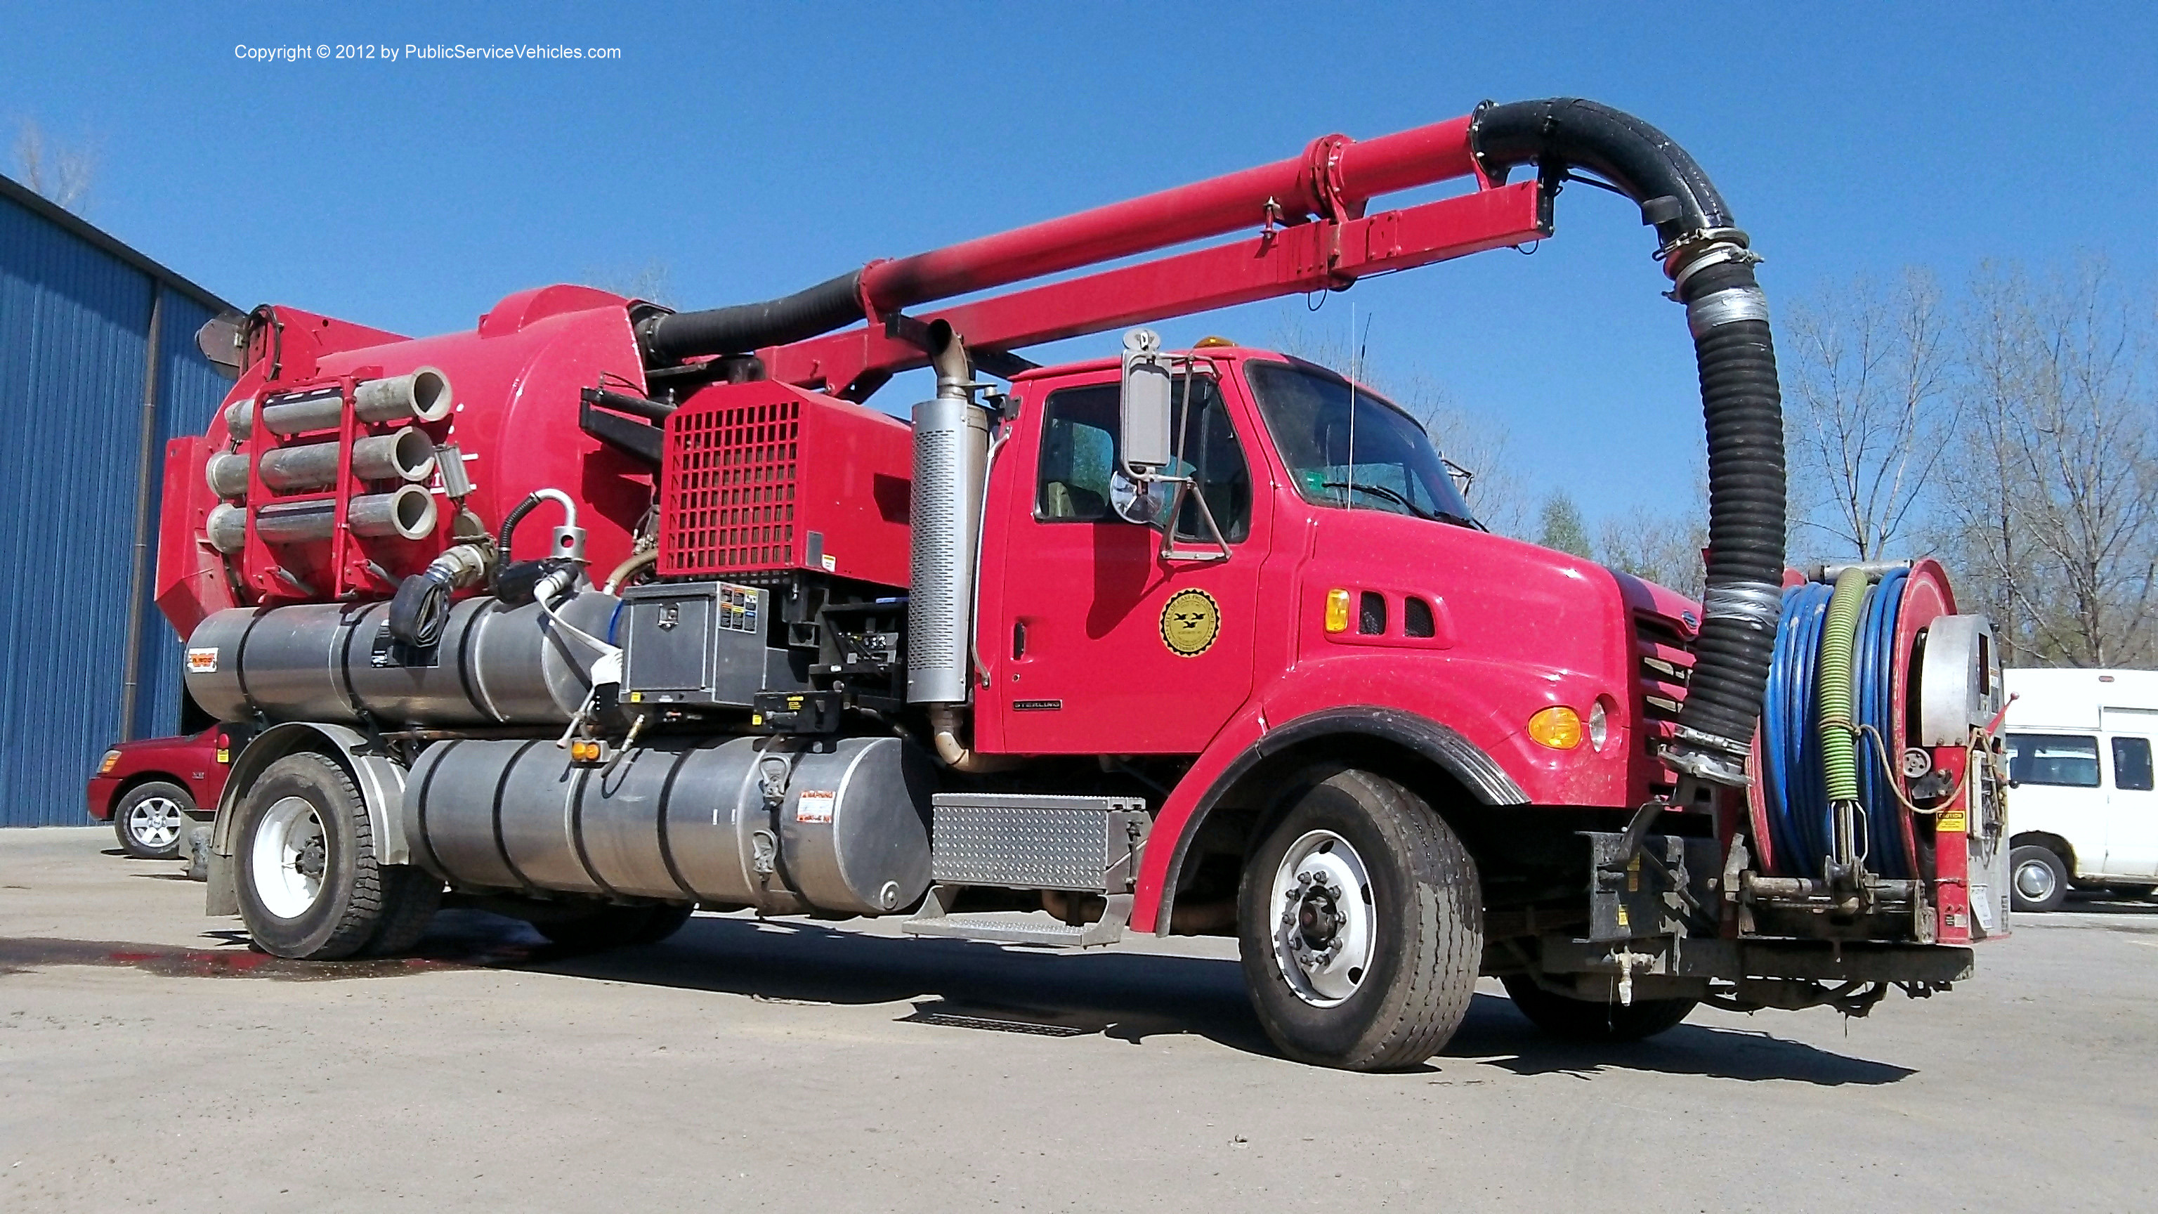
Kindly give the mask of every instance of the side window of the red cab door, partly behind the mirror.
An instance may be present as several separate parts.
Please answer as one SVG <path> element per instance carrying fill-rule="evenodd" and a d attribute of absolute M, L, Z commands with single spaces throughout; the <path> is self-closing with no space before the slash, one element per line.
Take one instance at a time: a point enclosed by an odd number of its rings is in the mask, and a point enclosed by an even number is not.
<path fill-rule="evenodd" d="M 1189 393 L 1187 393 L 1189 389 Z M 1221 538 L 1252 531 L 1252 469 L 1213 376 L 1178 376 L 1174 439 L 1183 458 L 1167 471 L 1189 475 L 1206 499 Z M 1042 523 L 1116 523 L 1109 505 L 1116 477 L 1118 387 L 1092 385 L 1049 393 L 1042 408 L 1042 451 L 1036 471 L 1034 516 Z M 1176 534 L 1206 538 L 1196 501 L 1178 510 Z"/>

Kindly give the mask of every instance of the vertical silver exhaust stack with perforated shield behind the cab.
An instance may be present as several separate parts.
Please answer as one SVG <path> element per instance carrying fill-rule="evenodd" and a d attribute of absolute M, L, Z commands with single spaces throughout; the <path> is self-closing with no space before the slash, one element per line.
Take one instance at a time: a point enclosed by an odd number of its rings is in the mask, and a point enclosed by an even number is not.
<path fill-rule="evenodd" d="M 937 397 L 915 406 L 909 521 L 906 700 L 965 704 L 973 648 L 973 575 L 988 475 L 988 415 L 973 402 L 967 343 L 930 324 Z"/>

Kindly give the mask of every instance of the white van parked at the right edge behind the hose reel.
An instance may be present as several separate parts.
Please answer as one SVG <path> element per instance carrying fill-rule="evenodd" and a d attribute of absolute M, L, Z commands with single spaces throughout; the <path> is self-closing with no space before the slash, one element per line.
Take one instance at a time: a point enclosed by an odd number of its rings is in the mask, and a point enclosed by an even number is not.
<path fill-rule="evenodd" d="M 2016 909 L 2158 890 L 2158 670 L 2007 670 Z"/>

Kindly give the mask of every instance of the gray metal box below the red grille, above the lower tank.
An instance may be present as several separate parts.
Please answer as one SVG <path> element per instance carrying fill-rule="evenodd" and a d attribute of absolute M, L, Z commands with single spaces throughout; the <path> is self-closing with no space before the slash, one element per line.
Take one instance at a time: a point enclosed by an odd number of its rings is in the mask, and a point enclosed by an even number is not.
<path fill-rule="evenodd" d="M 749 709 L 786 691 L 768 672 L 786 655 L 764 644 L 770 592 L 732 581 L 673 581 L 622 592 L 622 698 L 630 704 Z"/>

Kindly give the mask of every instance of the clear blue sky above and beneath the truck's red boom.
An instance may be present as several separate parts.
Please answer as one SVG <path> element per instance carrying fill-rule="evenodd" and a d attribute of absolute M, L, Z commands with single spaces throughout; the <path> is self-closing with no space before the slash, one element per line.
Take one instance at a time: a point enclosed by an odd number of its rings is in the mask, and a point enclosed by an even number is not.
<path fill-rule="evenodd" d="M 421 335 L 647 268 L 680 307 L 766 298 L 1316 134 L 1571 93 L 1694 151 L 1793 300 L 2085 253 L 2149 285 L 2154 35 L 2134 4 L 11 4 L 0 123 L 95 145 L 88 218 L 233 302 Z M 622 58 L 233 54 L 460 41 Z M 1534 490 L 1601 516 L 1677 503 L 1698 460 L 1683 315 L 1649 253 L 1627 203 L 1575 188 L 1534 257 L 1161 328 L 1347 333 L 1355 300 L 1381 378 L 1504 421 Z"/>

